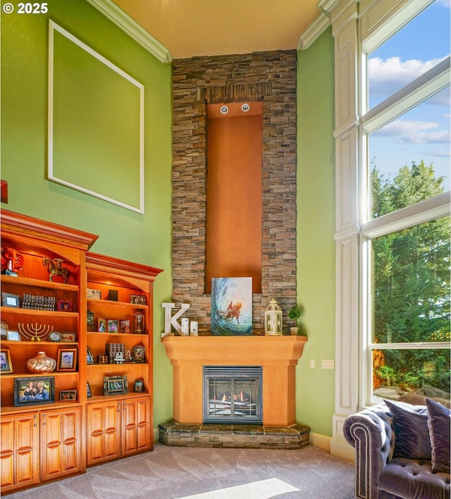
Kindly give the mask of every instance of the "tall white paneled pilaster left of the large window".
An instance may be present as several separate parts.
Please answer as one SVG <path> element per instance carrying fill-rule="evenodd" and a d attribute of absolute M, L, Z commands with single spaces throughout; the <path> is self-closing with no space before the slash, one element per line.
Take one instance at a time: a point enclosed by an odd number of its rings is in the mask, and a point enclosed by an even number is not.
<path fill-rule="evenodd" d="M 324 2 L 325 4 L 326 2 Z M 335 39 L 335 414 L 330 452 L 347 449 L 343 423 L 359 395 L 358 0 L 334 2 Z"/>

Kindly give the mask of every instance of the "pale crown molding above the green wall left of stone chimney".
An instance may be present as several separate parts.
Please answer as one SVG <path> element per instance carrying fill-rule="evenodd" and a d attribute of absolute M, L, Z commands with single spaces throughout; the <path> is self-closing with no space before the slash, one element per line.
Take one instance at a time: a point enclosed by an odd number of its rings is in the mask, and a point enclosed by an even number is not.
<path fill-rule="evenodd" d="M 121 8 L 111 0 L 87 0 L 89 4 L 97 8 L 106 18 L 111 20 L 116 26 L 120 27 L 130 38 L 144 47 L 152 56 L 156 57 L 162 63 L 171 63 L 171 52 L 164 47 L 156 38 L 130 18 Z"/>

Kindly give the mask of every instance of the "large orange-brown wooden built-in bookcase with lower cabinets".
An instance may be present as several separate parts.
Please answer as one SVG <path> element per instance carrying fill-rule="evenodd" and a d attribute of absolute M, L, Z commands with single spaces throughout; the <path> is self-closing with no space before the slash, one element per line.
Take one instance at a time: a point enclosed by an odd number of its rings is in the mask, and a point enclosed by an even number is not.
<path fill-rule="evenodd" d="M 11 362 L 1 373 L 1 493 L 80 474 L 89 465 L 152 450 L 153 283 L 161 270 L 89 253 L 97 235 L 6 210 L 1 211 L 1 238 L 2 248 L 9 247 L 23 257 L 17 276 L 4 275 L 7 261 L 2 261 L 1 292 L 18 297 L 18 306 L 2 300 L 1 320 L 10 332 L 33 325 L 46 331 L 41 341 L 23 334 L 20 340 L 1 338 L 1 350 L 8 353 Z M 69 271 L 66 283 L 61 276 L 50 281 L 44 257 L 62 261 Z M 100 290 L 101 299 L 87 300 L 87 288 Z M 109 290 L 118 293 L 118 301 L 106 299 Z M 52 297 L 55 309 L 25 309 L 21 307 L 25 294 Z M 145 304 L 130 303 L 130 295 L 144 296 Z M 70 311 L 58 309 L 58 301 L 70 303 Z M 127 320 L 131 325 L 138 311 L 144 315 L 145 330 L 140 335 L 132 330 L 125 334 L 88 331 L 88 309 L 94 313 L 95 324 L 101 317 Z M 70 333 L 72 337 L 51 341 L 51 331 L 66 336 Z M 89 365 L 87 347 L 97 362 L 107 343 L 124 343 L 128 350 L 142 345 L 144 362 Z M 56 371 L 45 374 L 27 370 L 27 360 L 38 351 L 58 359 L 59 350 L 69 348 L 76 352 L 73 370 L 62 371 L 58 365 Z M 42 376 L 51 376 L 54 400 L 21 404 L 20 394 L 15 395 L 15 380 L 38 380 Z M 105 396 L 105 376 L 126 376 L 128 393 Z M 134 392 L 137 380 L 142 380 L 139 393 Z M 87 383 L 92 397 L 88 397 Z M 75 400 L 60 400 L 61 390 L 75 391 Z M 116 431 L 111 431 L 112 427 Z M 109 452 L 111 445 L 114 452 Z"/>

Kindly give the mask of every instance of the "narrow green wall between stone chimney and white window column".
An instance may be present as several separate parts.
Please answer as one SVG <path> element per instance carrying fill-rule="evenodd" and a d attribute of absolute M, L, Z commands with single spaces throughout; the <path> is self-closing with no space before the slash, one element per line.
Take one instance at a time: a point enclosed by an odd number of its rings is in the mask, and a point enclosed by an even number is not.
<path fill-rule="evenodd" d="M 297 366 L 297 421 L 332 436 L 335 369 L 334 73 L 331 29 L 307 50 L 297 69 L 297 300 L 309 340 Z M 310 360 L 315 367 L 310 367 Z"/>

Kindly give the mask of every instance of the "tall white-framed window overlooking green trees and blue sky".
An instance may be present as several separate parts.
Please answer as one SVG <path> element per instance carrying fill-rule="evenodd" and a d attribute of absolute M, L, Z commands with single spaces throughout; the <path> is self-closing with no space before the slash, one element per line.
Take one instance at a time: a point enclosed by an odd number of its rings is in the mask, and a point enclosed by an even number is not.
<path fill-rule="evenodd" d="M 362 63 L 364 402 L 450 398 L 450 4 L 399 24 Z"/>

